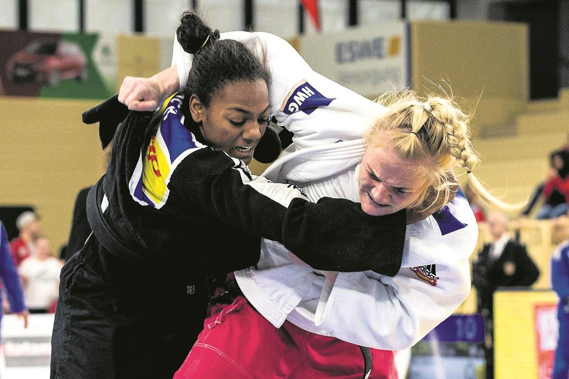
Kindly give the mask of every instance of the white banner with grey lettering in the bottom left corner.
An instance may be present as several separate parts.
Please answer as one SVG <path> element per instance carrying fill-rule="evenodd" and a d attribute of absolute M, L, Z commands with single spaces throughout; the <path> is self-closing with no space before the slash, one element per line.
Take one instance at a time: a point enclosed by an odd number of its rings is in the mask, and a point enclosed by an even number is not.
<path fill-rule="evenodd" d="M 0 377 L 48 379 L 50 377 L 53 314 L 28 316 L 28 327 L 15 315 L 2 317 Z"/>

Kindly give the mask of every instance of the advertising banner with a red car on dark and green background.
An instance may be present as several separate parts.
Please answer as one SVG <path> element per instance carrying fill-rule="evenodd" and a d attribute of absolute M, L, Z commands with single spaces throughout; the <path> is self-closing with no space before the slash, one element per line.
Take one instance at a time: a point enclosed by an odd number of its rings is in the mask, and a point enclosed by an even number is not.
<path fill-rule="evenodd" d="M 0 31 L 0 95 L 110 97 L 114 48 L 99 40 L 98 34 Z"/>

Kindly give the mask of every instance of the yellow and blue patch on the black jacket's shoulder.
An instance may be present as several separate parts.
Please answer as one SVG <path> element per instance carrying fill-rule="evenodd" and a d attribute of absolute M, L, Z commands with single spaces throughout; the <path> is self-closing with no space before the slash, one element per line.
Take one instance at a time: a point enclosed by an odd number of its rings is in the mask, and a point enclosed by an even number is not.
<path fill-rule="evenodd" d="M 129 182 L 130 194 L 141 205 L 160 209 L 168 199 L 168 183 L 176 167 L 193 151 L 203 148 L 195 135 L 184 127 L 183 95 L 168 98 L 160 109 L 162 119 L 151 135 L 144 156 Z"/>

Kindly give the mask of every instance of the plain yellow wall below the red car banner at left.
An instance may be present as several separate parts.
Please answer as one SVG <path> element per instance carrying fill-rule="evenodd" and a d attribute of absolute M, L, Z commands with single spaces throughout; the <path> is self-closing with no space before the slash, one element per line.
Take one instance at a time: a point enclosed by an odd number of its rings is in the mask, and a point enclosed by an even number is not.
<path fill-rule="evenodd" d="M 104 172 L 97 124 L 81 122 L 81 113 L 97 103 L 0 98 L 0 131 L 7 152 L 1 203 L 34 206 L 55 255 L 67 243 L 77 192 Z"/>

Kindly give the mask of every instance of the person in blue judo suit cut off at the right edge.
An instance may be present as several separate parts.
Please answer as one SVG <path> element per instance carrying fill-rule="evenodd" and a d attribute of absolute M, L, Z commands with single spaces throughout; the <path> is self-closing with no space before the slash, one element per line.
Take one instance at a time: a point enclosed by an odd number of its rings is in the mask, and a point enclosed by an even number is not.
<path fill-rule="evenodd" d="M 569 239 L 551 256 L 551 288 L 559 297 L 557 317 L 559 339 L 551 379 L 567 379 L 569 374 Z"/>

